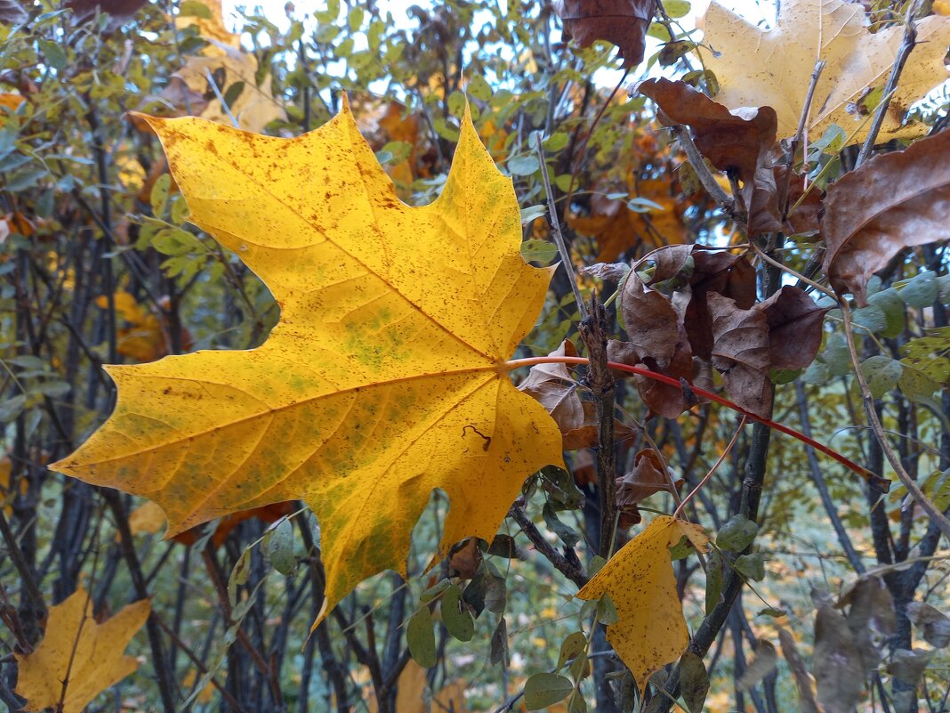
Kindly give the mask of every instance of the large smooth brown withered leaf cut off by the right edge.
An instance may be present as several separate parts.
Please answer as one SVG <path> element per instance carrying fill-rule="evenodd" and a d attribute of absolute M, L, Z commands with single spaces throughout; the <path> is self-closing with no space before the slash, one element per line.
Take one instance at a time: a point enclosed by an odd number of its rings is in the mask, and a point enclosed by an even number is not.
<path fill-rule="evenodd" d="M 867 280 L 903 248 L 950 238 L 950 131 L 845 174 L 825 210 L 825 273 L 864 305 Z"/>

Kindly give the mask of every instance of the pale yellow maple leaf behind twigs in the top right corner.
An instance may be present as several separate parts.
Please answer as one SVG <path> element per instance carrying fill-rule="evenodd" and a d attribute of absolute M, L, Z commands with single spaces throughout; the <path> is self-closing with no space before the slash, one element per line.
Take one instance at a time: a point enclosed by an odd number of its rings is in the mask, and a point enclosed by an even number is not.
<path fill-rule="evenodd" d="M 841 0 L 783 0 L 772 29 L 750 25 L 713 0 L 697 24 L 705 32 L 705 44 L 716 52 L 701 51 L 719 81 L 715 100 L 731 109 L 771 106 L 778 114 L 779 139 L 794 136 L 819 59 L 826 67 L 815 88 L 808 137 L 818 139 L 831 124 L 850 136 L 867 118 L 857 103 L 867 90 L 883 87 L 903 37 L 902 26 L 870 33 L 864 6 Z M 948 44 L 950 19 L 931 16 L 918 22 L 917 45 L 884 119 L 881 142 L 927 130 L 919 122 L 902 126 L 902 114 L 947 79 L 943 57 Z M 852 141 L 863 141 L 869 125 L 864 122 Z"/>

